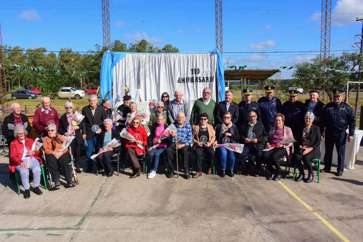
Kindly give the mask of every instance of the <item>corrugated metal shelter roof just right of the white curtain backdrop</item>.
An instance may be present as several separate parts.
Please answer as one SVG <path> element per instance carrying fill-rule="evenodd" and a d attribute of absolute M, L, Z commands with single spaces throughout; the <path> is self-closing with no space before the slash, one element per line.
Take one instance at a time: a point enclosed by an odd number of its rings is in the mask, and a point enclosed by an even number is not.
<path fill-rule="evenodd" d="M 265 81 L 280 70 L 224 70 L 225 81 L 241 81 L 246 80 Z"/>

